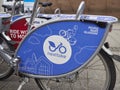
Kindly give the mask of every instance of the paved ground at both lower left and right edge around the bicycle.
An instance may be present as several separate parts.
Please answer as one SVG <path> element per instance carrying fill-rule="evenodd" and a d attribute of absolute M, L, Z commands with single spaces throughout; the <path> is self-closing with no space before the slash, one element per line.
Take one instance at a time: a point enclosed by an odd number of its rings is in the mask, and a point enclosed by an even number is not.
<path fill-rule="evenodd" d="M 109 33 L 107 41 L 109 41 L 111 50 L 120 55 L 120 23 L 116 23 L 113 26 L 113 31 Z M 114 90 L 120 90 L 120 62 L 115 61 L 117 70 L 117 82 Z M 9 79 L 0 81 L 0 90 L 16 90 L 19 85 L 19 77 L 12 75 Z M 35 82 L 31 79 L 31 82 L 23 87 L 22 90 L 39 90 Z"/>

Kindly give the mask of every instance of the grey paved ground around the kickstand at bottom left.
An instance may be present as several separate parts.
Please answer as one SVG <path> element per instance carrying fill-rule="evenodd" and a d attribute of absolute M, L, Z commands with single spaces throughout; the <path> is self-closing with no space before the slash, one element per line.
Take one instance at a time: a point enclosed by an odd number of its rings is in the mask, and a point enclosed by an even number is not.
<path fill-rule="evenodd" d="M 20 84 L 20 78 L 13 75 L 10 78 L 0 81 L 0 90 L 17 90 Z M 30 82 L 24 85 L 22 90 L 40 90 L 33 79 L 30 79 Z"/>

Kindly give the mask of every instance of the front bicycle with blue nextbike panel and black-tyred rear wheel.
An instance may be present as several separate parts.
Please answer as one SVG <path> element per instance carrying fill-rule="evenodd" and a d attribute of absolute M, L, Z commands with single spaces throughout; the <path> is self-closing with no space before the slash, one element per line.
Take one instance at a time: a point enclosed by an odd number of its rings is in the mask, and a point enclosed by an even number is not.
<path fill-rule="evenodd" d="M 36 0 L 35 4 L 37 2 L 38 0 Z M 80 11 L 81 10 L 78 9 L 78 14 L 81 13 Z M 107 52 L 108 49 L 103 45 L 103 43 L 109 32 L 111 24 L 116 22 L 117 18 L 97 15 L 79 16 L 78 14 L 76 17 L 80 20 L 56 20 L 47 22 L 46 24 L 35 28 L 21 42 L 14 58 L 11 57 L 7 51 L 0 50 L 0 54 L 5 58 L 5 61 L 25 77 L 18 90 L 22 88 L 24 83 L 28 82 L 28 77 L 34 78 L 37 85 L 42 90 L 56 90 L 56 88 L 73 90 L 74 83 L 75 90 L 113 90 L 116 80 L 115 67 L 111 56 Z M 78 26 L 78 29 L 75 36 L 72 36 L 76 38 L 77 43 L 72 45 L 67 41 L 67 39 L 59 35 L 59 33 L 61 30 L 65 30 L 66 32 L 70 29 L 72 30 L 76 25 Z M 62 43 L 66 52 L 61 54 L 59 52 L 60 49 L 58 49 L 60 47 L 55 49 L 55 53 L 51 52 L 49 49 L 49 41 L 52 41 L 52 50 L 53 48 L 56 48 L 56 45 L 59 46 L 60 43 Z M 96 43 L 93 44 L 93 42 Z M 98 52 L 100 57 L 96 56 Z M 93 61 L 96 60 L 93 59 L 94 57 L 97 59 L 95 62 Z M 97 69 L 97 66 L 99 67 L 101 65 L 101 69 Z M 88 68 L 98 70 L 97 73 L 99 73 L 99 77 L 93 75 L 96 71 L 91 71 L 90 77 L 88 78 L 88 73 L 90 71 Z M 84 71 L 86 69 L 88 69 L 87 72 Z M 103 73 L 100 72 L 101 70 L 103 70 Z M 103 76 L 104 73 L 105 75 Z M 79 74 L 81 74 L 81 77 Z M 100 82 L 99 85 L 94 85 L 95 83 L 93 84 L 93 81 L 89 86 L 91 80 L 89 80 L 89 82 L 87 80 L 94 78 L 97 78 L 97 82 L 98 79 L 103 82 Z M 83 82 L 78 83 L 77 80 L 81 80 Z M 77 87 L 76 85 L 80 85 L 80 87 Z"/>

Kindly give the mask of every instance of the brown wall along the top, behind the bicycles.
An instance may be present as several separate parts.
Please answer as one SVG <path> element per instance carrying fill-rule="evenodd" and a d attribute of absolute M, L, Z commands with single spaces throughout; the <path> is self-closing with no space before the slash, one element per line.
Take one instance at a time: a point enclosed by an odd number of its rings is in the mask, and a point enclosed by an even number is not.
<path fill-rule="evenodd" d="M 56 8 L 60 8 L 62 13 L 76 13 L 76 10 L 82 0 L 40 0 L 50 1 L 51 7 L 45 10 L 47 13 L 53 13 Z M 86 14 L 113 15 L 120 18 L 120 0 L 84 0 L 86 3 Z"/>

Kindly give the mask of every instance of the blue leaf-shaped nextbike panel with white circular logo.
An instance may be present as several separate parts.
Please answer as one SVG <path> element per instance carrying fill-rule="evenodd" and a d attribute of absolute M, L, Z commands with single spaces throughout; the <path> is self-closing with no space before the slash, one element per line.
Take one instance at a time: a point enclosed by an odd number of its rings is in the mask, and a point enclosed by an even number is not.
<path fill-rule="evenodd" d="M 95 54 L 107 30 L 93 22 L 65 20 L 36 28 L 23 40 L 16 56 L 19 70 L 43 76 L 74 71 Z"/>

